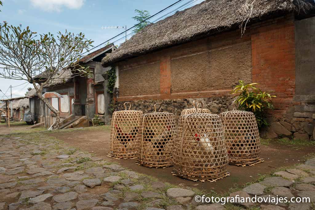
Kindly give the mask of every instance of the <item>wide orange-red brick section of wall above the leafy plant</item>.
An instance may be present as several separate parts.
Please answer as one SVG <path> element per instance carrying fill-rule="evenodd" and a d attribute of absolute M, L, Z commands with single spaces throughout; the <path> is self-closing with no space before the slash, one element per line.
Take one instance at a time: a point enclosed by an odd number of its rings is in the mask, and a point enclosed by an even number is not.
<path fill-rule="evenodd" d="M 294 23 L 261 27 L 251 39 L 252 81 L 277 96 L 272 115 L 283 118 L 295 95 Z"/>

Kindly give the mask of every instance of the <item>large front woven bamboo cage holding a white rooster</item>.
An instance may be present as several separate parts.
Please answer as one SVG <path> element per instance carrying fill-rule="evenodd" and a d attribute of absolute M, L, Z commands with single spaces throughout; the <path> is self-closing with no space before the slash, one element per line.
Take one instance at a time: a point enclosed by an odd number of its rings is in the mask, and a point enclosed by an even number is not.
<path fill-rule="evenodd" d="M 197 109 L 195 113 L 180 116 L 173 161 L 175 175 L 182 178 L 223 177 L 228 156 L 220 117 L 203 110 L 198 113 Z"/>

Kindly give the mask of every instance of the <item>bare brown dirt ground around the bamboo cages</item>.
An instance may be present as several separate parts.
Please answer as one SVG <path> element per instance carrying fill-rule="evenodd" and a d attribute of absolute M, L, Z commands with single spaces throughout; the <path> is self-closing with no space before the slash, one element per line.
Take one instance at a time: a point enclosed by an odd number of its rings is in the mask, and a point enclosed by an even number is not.
<path fill-rule="evenodd" d="M 272 169 L 302 163 L 303 156 L 315 152 L 315 147 L 311 146 L 297 148 L 294 145 L 288 146 L 272 142 L 269 145 L 262 145 L 261 158 L 264 158 L 265 162 L 251 167 L 238 167 L 229 165 L 227 169 L 228 172 L 231 173 L 229 177 L 213 183 L 201 183 L 173 176 L 171 174 L 173 167 L 168 167 L 165 169 L 147 168 L 135 165 L 136 159 L 117 160 L 108 157 L 107 154 L 110 152 L 110 133 L 105 129 L 103 131 L 93 132 L 83 129 L 69 133 L 52 133 L 50 135 L 63 140 L 71 146 L 80 147 L 82 150 L 95 153 L 104 160 L 117 162 L 123 167 L 128 167 L 139 173 L 151 175 L 160 179 L 161 181 L 179 184 L 181 186 L 197 187 L 201 190 L 215 190 L 218 193 L 227 192 L 236 184 L 242 185 L 247 182 L 254 181 L 258 178 L 259 174 L 269 173 Z"/>

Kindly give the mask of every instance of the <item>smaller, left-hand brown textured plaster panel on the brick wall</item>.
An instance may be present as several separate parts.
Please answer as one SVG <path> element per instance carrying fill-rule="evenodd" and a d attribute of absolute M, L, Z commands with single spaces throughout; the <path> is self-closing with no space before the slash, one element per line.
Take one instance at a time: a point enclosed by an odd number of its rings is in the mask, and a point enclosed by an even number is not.
<path fill-rule="evenodd" d="M 160 93 L 160 63 L 134 67 L 119 72 L 119 95 Z"/>

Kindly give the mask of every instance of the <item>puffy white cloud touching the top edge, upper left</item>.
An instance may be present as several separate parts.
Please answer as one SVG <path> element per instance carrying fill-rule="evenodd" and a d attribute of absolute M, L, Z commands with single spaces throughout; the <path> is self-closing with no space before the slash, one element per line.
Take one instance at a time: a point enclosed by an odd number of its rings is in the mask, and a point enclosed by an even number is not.
<path fill-rule="evenodd" d="M 45 11 L 60 12 L 62 7 L 68 9 L 80 9 L 83 6 L 84 0 L 30 0 L 33 6 Z"/>

